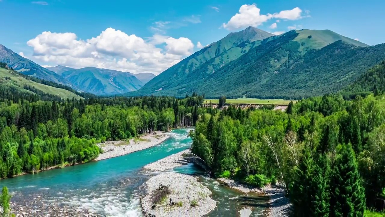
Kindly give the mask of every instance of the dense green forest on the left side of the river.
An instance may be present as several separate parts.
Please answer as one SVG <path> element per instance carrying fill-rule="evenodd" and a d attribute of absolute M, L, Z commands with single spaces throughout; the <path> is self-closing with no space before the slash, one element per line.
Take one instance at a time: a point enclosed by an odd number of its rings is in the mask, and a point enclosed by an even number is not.
<path fill-rule="evenodd" d="M 95 144 L 194 125 L 203 97 L 67 99 L 0 85 L 0 178 L 95 159 Z M 28 89 L 25 88 L 25 89 Z"/>

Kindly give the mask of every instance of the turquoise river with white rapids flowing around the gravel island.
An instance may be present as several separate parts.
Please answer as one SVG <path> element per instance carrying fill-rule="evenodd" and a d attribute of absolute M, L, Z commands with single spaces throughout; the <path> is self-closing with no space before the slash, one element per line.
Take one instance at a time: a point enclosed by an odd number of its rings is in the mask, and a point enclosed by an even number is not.
<path fill-rule="evenodd" d="M 35 215 L 44 215 L 52 207 L 62 207 L 77 212 L 88 210 L 100 216 L 142 216 L 138 188 L 153 174 L 141 168 L 189 148 L 192 143 L 191 138 L 187 137 L 189 130 L 168 132 L 169 139 L 142 151 L 0 180 L 0 185 L 9 188 L 15 207 L 23 207 L 28 212 L 32 210 Z M 192 164 L 175 168 L 174 171 L 200 174 Z M 236 210 L 245 205 L 253 207 L 252 216 L 266 211 L 266 197 L 243 195 L 211 178 L 201 176 L 200 180 L 212 190 L 213 199 L 218 201 L 216 210 L 208 216 L 237 216 Z M 250 200 L 250 197 L 253 199 Z"/>

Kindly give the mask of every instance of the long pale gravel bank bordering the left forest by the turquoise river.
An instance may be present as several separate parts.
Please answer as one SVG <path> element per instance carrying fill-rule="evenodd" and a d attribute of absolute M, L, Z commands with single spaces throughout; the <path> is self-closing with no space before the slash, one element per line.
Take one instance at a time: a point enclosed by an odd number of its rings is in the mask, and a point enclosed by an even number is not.
<path fill-rule="evenodd" d="M 103 149 L 103 153 L 95 161 L 114 158 L 125 154 L 133 153 L 149 147 L 156 146 L 168 139 L 169 136 L 161 131 L 156 131 L 152 134 L 141 136 L 139 139 L 134 138 L 129 141 L 107 141 L 97 144 Z"/>

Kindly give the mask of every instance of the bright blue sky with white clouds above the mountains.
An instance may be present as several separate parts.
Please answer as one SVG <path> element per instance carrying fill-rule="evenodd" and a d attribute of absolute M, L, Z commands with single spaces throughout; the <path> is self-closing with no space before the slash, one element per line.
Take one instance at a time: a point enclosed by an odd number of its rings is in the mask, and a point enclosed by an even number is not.
<path fill-rule="evenodd" d="M 198 51 L 198 42 L 205 46 L 248 23 L 268 32 L 330 29 L 369 45 L 385 42 L 385 2 L 344 2 L 0 0 L 0 44 L 41 65 L 160 73 Z"/>

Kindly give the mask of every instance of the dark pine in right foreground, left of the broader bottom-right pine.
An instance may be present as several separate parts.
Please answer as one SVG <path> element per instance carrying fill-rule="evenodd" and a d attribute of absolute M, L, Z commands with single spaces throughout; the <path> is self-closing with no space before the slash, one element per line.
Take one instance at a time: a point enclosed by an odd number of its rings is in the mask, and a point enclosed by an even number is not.
<path fill-rule="evenodd" d="M 314 190 L 312 186 L 315 164 L 308 148 L 303 149 L 301 163 L 295 169 L 295 176 L 290 185 L 290 200 L 295 216 L 305 217 L 311 213 Z"/>

